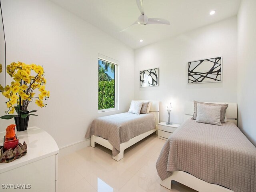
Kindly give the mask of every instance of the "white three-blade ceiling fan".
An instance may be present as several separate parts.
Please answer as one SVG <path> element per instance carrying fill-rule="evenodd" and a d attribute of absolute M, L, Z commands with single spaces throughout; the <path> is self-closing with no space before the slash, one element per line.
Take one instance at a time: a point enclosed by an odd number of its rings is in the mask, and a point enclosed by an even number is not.
<path fill-rule="evenodd" d="M 148 18 L 145 14 L 144 14 L 144 8 L 143 8 L 143 0 L 136 0 L 136 3 L 138 5 L 138 8 L 140 10 L 141 15 L 138 17 L 138 19 L 136 20 L 136 22 L 134 22 L 132 25 L 148 25 L 148 24 L 166 24 L 166 25 L 170 25 L 170 22 L 166 19 L 162 19 L 162 18 Z M 130 26 L 128 26 L 127 28 L 125 28 L 124 30 L 128 29 Z M 124 31 L 122 30 L 122 31 Z M 120 31 L 120 32 L 122 32 Z"/>

